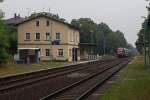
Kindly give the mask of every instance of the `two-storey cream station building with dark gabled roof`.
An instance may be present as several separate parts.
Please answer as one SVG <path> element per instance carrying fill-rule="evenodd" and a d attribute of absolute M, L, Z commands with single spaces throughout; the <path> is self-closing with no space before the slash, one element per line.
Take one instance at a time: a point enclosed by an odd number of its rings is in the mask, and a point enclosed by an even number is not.
<path fill-rule="evenodd" d="M 79 61 L 79 42 L 77 28 L 47 13 L 32 15 L 18 24 L 18 54 L 27 63 Z"/>

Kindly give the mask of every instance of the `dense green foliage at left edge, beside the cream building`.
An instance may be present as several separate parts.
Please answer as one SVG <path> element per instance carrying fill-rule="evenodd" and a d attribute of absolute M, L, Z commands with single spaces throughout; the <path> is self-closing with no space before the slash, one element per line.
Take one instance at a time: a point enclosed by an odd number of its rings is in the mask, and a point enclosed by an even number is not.
<path fill-rule="evenodd" d="M 0 65 L 7 63 L 17 50 L 17 29 L 0 20 Z"/>

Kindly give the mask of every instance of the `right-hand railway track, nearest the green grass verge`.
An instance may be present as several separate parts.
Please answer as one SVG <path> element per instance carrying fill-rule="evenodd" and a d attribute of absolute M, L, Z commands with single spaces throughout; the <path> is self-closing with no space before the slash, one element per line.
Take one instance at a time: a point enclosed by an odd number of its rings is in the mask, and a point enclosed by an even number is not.
<path fill-rule="evenodd" d="M 40 100 L 82 100 L 122 69 L 129 60 L 108 65 L 106 68 L 78 82 L 66 86 Z M 90 88 L 89 88 L 90 87 Z"/>

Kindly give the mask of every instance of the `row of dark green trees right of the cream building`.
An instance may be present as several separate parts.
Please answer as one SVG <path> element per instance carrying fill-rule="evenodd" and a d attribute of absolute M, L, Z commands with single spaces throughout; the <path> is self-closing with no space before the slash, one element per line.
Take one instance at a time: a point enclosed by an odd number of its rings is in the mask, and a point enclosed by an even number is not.
<path fill-rule="evenodd" d="M 127 47 L 123 33 L 113 32 L 105 23 L 96 24 L 90 18 L 80 18 L 73 19 L 71 24 L 80 29 L 80 42 L 95 43 L 96 52 L 100 55 L 104 53 L 104 43 L 107 54 L 114 54 L 118 47 Z"/>

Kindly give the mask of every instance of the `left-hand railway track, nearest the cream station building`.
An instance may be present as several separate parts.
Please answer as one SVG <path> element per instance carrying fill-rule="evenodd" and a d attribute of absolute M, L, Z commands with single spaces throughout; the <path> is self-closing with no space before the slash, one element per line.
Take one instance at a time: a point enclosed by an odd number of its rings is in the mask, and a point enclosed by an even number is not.
<path fill-rule="evenodd" d="M 0 79 L 0 93 L 8 92 L 16 88 L 25 87 L 25 86 L 32 85 L 40 81 L 55 78 L 55 77 L 73 73 L 76 71 L 81 71 L 85 69 L 87 70 L 87 69 L 90 69 L 89 66 L 95 66 L 95 65 L 99 66 L 103 64 L 104 62 L 105 61 L 89 63 L 89 64 L 79 64 L 79 65 L 73 65 L 70 67 L 67 66 L 64 68 L 44 70 L 40 72 L 33 72 L 33 73 L 25 74 L 25 75 L 19 75 L 19 76 L 13 76 L 13 77 Z"/>

